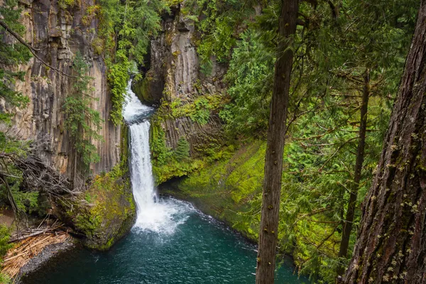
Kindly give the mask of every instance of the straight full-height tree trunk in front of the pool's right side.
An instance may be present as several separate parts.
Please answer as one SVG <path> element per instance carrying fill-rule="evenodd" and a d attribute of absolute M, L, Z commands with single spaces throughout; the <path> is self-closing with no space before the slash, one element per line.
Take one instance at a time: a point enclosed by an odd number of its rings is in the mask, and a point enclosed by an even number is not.
<path fill-rule="evenodd" d="M 256 268 L 256 283 L 271 284 L 274 280 L 275 251 L 278 239 L 283 148 L 287 119 L 288 93 L 293 65 L 292 35 L 296 31 L 298 0 L 282 0 L 279 22 L 280 40 L 275 62 L 275 79 L 269 117 L 261 228 Z"/>

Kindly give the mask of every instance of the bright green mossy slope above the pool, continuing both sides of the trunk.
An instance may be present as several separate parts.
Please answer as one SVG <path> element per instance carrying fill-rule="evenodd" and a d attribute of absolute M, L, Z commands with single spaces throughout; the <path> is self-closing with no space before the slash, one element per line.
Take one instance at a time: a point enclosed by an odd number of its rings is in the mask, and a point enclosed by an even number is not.
<path fill-rule="evenodd" d="M 265 153 L 266 141 L 247 142 L 233 153 L 225 152 L 219 160 L 206 161 L 201 169 L 168 186 L 163 192 L 194 203 L 203 212 L 257 241 Z M 296 264 L 300 265 L 306 261 L 318 261 L 320 256 L 312 252 L 312 246 L 321 246 L 321 257 L 336 259 L 334 246 L 338 244 L 340 235 L 334 230 L 334 224 L 322 223 L 328 219 L 320 214 L 297 222 L 290 216 L 297 210 L 292 197 L 298 192 L 299 185 L 283 173 L 278 230 L 281 252 L 293 254 Z M 327 241 L 323 242 L 324 239 Z M 354 244 L 354 239 L 355 236 L 351 244 Z M 322 262 L 321 267 L 326 265 L 330 264 Z M 335 270 L 329 268 L 328 271 Z"/>

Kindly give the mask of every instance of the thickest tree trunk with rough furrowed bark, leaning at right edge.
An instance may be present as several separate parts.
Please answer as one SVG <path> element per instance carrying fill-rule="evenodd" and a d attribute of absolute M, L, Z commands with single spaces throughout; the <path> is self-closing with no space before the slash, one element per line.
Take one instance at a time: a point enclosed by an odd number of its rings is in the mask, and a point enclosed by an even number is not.
<path fill-rule="evenodd" d="M 426 0 L 344 283 L 426 283 Z"/>

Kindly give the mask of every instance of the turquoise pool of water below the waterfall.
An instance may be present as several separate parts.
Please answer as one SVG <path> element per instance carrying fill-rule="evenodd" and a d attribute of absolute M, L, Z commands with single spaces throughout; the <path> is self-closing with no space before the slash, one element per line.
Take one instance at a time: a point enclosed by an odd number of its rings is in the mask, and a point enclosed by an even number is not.
<path fill-rule="evenodd" d="M 52 259 L 23 283 L 254 283 L 256 251 L 223 224 L 187 202 L 163 201 L 173 223 L 150 231 L 134 227 L 110 251 L 83 249 Z M 284 264 L 275 283 L 308 283 Z"/>

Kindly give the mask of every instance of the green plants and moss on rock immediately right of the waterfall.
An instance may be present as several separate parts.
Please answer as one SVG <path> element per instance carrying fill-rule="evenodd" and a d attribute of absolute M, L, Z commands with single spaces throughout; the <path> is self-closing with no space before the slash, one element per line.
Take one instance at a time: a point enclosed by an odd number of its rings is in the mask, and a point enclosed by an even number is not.
<path fill-rule="evenodd" d="M 213 160 L 219 160 L 229 151 L 222 146 L 221 141 L 208 135 L 201 136 L 198 139 L 200 144 L 191 145 L 195 152 L 190 157 L 190 144 L 186 138 L 181 137 L 178 140 L 176 149 L 166 146 L 164 121 L 167 119 L 177 119 L 182 116 L 197 117 L 207 119 L 210 111 L 220 109 L 227 99 L 223 99 L 222 95 L 212 95 L 206 97 L 198 97 L 192 103 L 183 104 L 180 99 L 173 102 L 162 101 L 162 104 L 151 118 L 151 160 L 153 163 L 153 174 L 155 182 L 160 184 L 171 178 L 189 175 L 190 173 L 201 170 L 204 165 L 211 163 Z M 204 116 L 200 116 L 203 113 Z M 198 116 L 197 116 L 198 115 Z M 203 121 L 199 119 L 198 123 Z M 195 120 L 195 119 L 193 119 Z"/>

